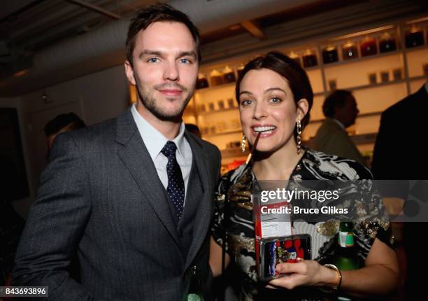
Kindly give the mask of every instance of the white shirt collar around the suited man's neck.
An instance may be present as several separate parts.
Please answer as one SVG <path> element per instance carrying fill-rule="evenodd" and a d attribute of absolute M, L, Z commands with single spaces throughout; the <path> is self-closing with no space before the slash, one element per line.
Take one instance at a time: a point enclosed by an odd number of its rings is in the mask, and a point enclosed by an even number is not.
<path fill-rule="evenodd" d="M 161 132 L 156 130 L 155 127 L 150 125 L 150 123 L 148 123 L 148 121 L 145 120 L 143 116 L 140 115 L 140 113 L 138 113 L 135 104 L 131 107 L 131 113 L 137 125 L 138 132 L 140 132 L 145 147 L 147 148 L 150 154 L 150 158 L 155 161 L 157 155 L 159 155 L 159 153 L 162 151 L 162 148 L 164 148 L 166 142 L 168 142 L 169 139 L 167 139 Z M 184 134 L 185 125 L 182 122 L 180 124 L 180 131 L 178 132 L 177 137 L 171 140 L 177 146 L 178 155 L 182 157 L 184 157 Z"/>

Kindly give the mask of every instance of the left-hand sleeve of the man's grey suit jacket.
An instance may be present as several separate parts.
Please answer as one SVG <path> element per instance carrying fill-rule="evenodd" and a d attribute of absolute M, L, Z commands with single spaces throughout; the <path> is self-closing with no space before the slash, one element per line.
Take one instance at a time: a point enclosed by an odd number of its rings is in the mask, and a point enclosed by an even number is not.
<path fill-rule="evenodd" d="M 13 285 L 48 286 L 48 300 L 93 300 L 67 272 L 91 212 L 86 169 L 76 141 L 60 134 L 17 248 Z"/>

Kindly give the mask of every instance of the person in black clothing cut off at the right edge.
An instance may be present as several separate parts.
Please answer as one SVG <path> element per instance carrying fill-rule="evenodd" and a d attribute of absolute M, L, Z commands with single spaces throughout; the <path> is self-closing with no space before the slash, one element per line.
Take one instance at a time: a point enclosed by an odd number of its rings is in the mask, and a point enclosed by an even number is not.
<path fill-rule="evenodd" d="M 394 188 L 397 193 L 387 196 L 404 199 L 405 213 L 408 211 L 406 207 L 411 207 L 413 202 L 407 200 L 408 181 L 428 179 L 428 161 L 423 155 L 425 151 L 422 146 L 422 140 L 427 135 L 427 111 L 428 82 L 417 92 L 386 109 L 380 118 L 373 152 L 373 175 L 379 180 L 401 180 L 387 182 L 393 183 L 389 186 L 394 185 L 390 188 Z M 418 195 L 416 190 L 413 193 Z M 420 274 L 428 269 L 428 265 L 427 260 L 424 260 L 426 251 L 420 241 L 422 233 L 427 230 L 427 225 L 415 221 L 407 221 L 403 225 L 403 245 L 407 260 L 404 292 L 406 300 L 418 300 L 425 294 L 425 278 Z"/>

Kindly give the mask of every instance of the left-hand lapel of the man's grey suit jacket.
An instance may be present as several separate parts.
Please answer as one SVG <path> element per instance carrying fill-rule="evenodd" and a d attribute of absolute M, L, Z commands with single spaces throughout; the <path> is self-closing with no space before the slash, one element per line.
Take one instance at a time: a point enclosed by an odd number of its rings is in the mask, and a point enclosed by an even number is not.
<path fill-rule="evenodd" d="M 117 117 L 116 141 L 122 144 L 117 155 L 138 184 L 145 200 L 148 201 L 159 220 L 169 231 L 177 246 L 180 246 L 165 188 L 159 180 L 156 167 L 147 148 L 145 148 L 130 110 Z"/>

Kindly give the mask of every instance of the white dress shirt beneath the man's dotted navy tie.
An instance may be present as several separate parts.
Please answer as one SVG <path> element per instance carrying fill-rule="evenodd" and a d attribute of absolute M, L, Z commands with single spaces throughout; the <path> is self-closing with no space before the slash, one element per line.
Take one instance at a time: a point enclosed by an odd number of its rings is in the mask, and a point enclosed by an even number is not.
<path fill-rule="evenodd" d="M 147 148 L 150 158 L 155 163 L 156 172 L 159 176 L 160 181 L 164 185 L 164 188 L 168 187 L 168 174 L 166 172 L 166 164 L 168 158 L 161 153 L 166 142 L 169 141 L 163 134 L 155 129 L 150 123 L 148 123 L 136 110 L 135 104 L 131 107 L 131 113 L 134 117 L 135 123 L 140 132 L 141 138 Z M 181 174 L 183 174 L 183 180 L 185 182 L 185 200 L 187 195 L 187 184 L 189 183 L 190 169 L 192 168 L 192 148 L 184 136 L 185 125 L 182 122 L 180 125 L 180 132 L 173 141 L 177 146 L 176 158 L 178 165 L 180 165 Z"/>

